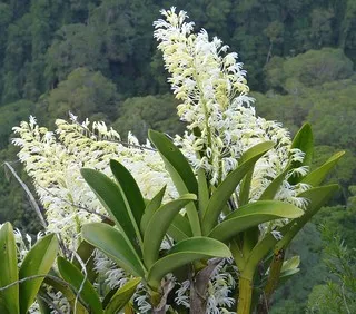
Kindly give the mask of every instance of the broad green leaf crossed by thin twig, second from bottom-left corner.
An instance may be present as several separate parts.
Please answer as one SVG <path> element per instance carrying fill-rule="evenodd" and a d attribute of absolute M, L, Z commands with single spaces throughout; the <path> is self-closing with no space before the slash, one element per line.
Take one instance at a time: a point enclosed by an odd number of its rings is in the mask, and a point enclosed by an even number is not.
<path fill-rule="evenodd" d="M 49 234 L 39 239 L 26 255 L 19 278 L 23 279 L 34 275 L 43 277 L 24 281 L 20 284 L 20 313 L 27 313 L 34 297 L 50 271 L 58 252 L 58 241 L 55 234 Z"/>

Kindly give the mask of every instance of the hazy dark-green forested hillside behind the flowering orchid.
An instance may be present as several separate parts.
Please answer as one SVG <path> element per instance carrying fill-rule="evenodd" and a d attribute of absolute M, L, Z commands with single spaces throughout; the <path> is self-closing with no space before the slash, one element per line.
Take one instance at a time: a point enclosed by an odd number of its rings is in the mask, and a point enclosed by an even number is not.
<path fill-rule="evenodd" d="M 148 128 L 182 130 L 152 39 L 159 9 L 177 6 L 197 29 L 238 51 L 259 116 L 294 134 L 313 126 L 316 165 L 346 156 L 330 180 L 340 193 L 291 247 L 301 271 L 277 294 L 271 313 L 303 313 L 336 281 L 329 274 L 329 234 L 356 248 L 356 1 L 355 0 L 1 0 L 0 163 L 29 185 L 11 128 L 33 115 L 105 120 L 125 137 Z M 0 223 L 36 234 L 39 222 L 18 181 L 0 169 Z M 303 244 L 303 245 L 301 245 Z"/>

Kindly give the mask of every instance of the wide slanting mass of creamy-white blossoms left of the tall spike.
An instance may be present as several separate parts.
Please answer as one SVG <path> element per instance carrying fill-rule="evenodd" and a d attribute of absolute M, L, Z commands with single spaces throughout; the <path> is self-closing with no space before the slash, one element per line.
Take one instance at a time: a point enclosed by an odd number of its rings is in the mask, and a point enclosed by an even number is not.
<path fill-rule="evenodd" d="M 164 185 L 167 197 L 176 190 L 158 153 L 149 146 L 140 147 L 134 136 L 122 144 L 119 135 L 103 122 L 78 124 L 57 120 L 57 130 L 39 127 L 33 117 L 21 122 L 14 131 L 13 144 L 21 147 L 19 158 L 32 177 L 46 209 L 48 232 L 61 236 L 69 249 L 80 243 L 80 228 L 99 222 L 105 209 L 80 175 L 82 167 L 95 168 L 111 176 L 109 160 L 118 159 L 134 175 L 142 194 L 151 198 Z"/>

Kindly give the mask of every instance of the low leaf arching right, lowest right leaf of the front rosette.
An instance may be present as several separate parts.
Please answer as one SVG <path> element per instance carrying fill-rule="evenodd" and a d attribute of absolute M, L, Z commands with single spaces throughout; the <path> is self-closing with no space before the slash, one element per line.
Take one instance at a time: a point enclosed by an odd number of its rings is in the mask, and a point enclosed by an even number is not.
<path fill-rule="evenodd" d="M 196 259 L 230 257 L 229 248 L 221 242 L 208 237 L 191 237 L 176 244 L 169 254 L 158 259 L 149 269 L 147 282 L 158 287 L 161 278 L 174 269 Z"/>

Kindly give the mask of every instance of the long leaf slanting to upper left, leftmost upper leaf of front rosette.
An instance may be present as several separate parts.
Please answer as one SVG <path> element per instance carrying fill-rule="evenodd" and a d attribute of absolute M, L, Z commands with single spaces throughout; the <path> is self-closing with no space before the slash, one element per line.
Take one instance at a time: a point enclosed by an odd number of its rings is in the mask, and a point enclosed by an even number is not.
<path fill-rule="evenodd" d="M 120 187 L 100 171 L 83 168 L 80 173 L 119 229 L 125 234 L 132 247 L 140 253 L 141 236 L 136 230 L 135 218 L 130 215 L 129 208 L 127 208 Z"/>

